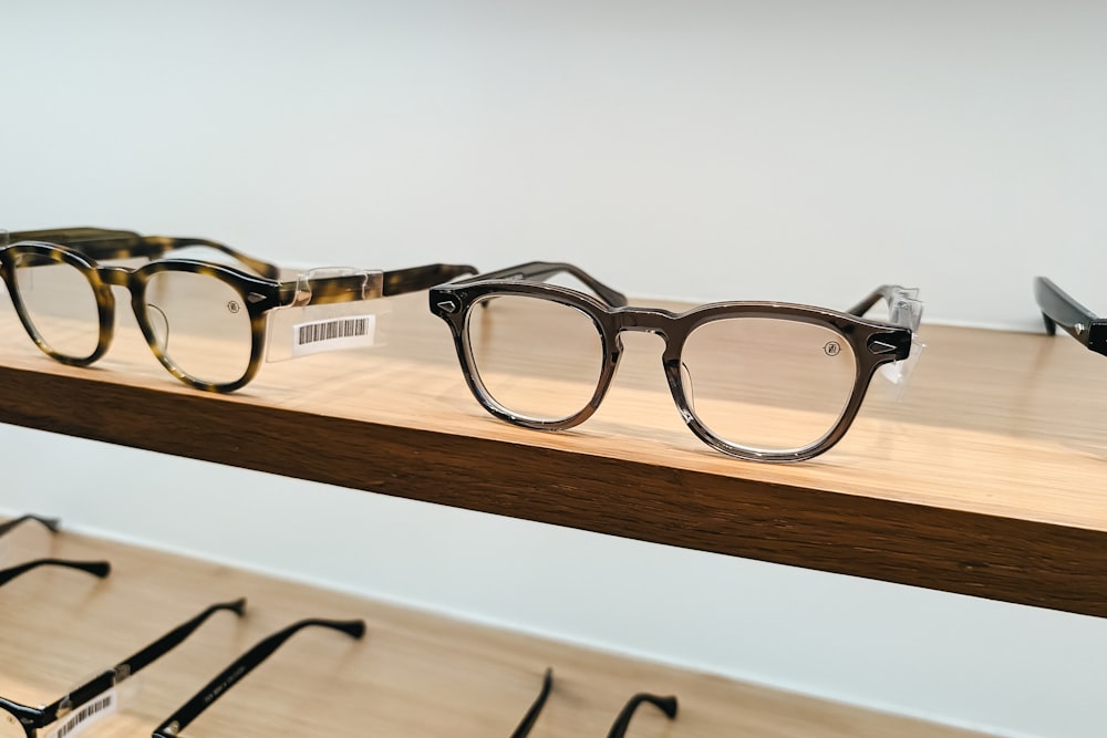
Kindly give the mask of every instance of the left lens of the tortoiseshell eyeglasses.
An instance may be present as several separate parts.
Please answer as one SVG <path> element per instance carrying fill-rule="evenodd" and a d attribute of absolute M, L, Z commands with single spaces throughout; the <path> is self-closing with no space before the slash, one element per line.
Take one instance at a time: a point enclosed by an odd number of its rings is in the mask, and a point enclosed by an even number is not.
<path fill-rule="evenodd" d="M 15 257 L 13 272 L 24 313 L 46 349 L 73 360 L 92 355 L 100 340 L 100 316 L 85 273 L 30 253 Z"/>

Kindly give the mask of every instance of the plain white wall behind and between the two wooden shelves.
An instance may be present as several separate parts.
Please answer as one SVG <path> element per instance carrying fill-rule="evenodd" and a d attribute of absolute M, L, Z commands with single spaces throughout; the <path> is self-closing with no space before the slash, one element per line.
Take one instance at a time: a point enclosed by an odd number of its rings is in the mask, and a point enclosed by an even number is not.
<path fill-rule="evenodd" d="M 0 227 L 318 264 L 550 258 L 697 300 L 846 305 L 897 281 L 931 320 L 1033 329 L 1034 274 L 1095 309 L 1107 273 L 1105 31 L 1092 2 L 0 0 Z M 7 511 L 1010 735 L 1101 734 L 1103 621 L 17 428 L 0 448 Z M 77 484 L 121 466 L 158 482 Z"/>

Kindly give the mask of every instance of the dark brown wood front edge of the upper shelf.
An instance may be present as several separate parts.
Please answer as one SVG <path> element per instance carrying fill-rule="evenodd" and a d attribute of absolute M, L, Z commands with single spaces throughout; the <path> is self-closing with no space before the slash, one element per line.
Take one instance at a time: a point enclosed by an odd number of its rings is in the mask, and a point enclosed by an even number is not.
<path fill-rule="evenodd" d="M 1107 617 L 1107 533 L 1100 531 L 12 367 L 0 366 L 0 422 L 13 425 L 668 545 Z"/>

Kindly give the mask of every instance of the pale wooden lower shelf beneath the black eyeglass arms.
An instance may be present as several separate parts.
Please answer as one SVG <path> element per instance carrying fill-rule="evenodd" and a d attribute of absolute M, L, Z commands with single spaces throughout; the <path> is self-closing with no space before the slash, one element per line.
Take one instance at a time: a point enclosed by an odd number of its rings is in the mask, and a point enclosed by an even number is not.
<path fill-rule="evenodd" d="M 676 695 L 680 711 L 669 723 L 641 710 L 628 734 L 640 738 L 981 735 L 69 532 L 24 526 L 0 539 L 0 568 L 45 555 L 107 559 L 113 573 L 42 569 L 0 588 L 0 695 L 25 704 L 59 698 L 211 603 L 249 600 L 244 619 L 220 613 L 142 672 L 96 736 L 148 736 L 239 653 L 308 616 L 362 617 L 368 635 L 303 631 L 184 735 L 508 736 L 547 666 L 554 689 L 535 738 L 606 735 L 642 690 Z"/>

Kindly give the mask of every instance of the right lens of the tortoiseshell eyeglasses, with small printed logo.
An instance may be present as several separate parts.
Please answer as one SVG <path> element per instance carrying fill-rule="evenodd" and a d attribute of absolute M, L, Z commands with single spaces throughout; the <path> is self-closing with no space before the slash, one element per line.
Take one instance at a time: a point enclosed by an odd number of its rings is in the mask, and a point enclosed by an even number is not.
<path fill-rule="evenodd" d="M 145 289 L 145 320 L 157 347 L 180 372 L 223 384 L 250 364 L 250 316 L 226 282 L 187 271 L 153 274 Z"/>

